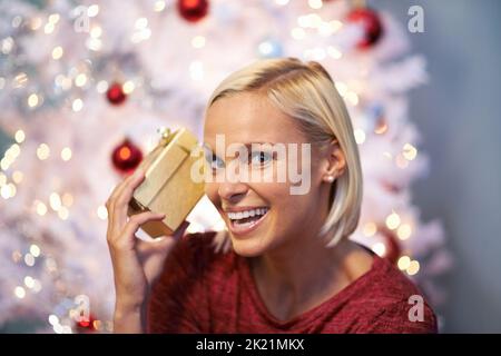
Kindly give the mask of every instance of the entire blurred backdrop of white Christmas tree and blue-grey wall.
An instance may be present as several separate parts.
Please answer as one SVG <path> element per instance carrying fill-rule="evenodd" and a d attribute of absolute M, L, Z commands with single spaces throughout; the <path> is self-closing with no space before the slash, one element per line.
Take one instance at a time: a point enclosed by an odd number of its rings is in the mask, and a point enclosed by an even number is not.
<path fill-rule="evenodd" d="M 353 239 L 444 333 L 501 333 L 495 0 L 0 1 L 0 332 L 109 333 L 106 201 L 258 58 L 327 68 L 364 170 Z M 223 229 L 203 199 L 190 231 Z"/>

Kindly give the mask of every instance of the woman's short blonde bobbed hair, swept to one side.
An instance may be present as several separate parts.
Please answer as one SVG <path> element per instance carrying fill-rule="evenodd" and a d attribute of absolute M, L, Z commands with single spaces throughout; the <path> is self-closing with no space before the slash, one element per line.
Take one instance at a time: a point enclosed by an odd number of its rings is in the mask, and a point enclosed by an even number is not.
<path fill-rule="evenodd" d="M 330 212 L 320 236 L 335 246 L 358 224 L 362 168 L 350 115 L 328 72 L 315 61 L 296 58 L 258 60 L 228 76 L 213 92 L 206 110 L 217 100 L 242 92 L 264 95 L 294 119 L 308 140 L 327 147 L 337 140 L 346 159 L 345 171 L 333 182 Z"/>

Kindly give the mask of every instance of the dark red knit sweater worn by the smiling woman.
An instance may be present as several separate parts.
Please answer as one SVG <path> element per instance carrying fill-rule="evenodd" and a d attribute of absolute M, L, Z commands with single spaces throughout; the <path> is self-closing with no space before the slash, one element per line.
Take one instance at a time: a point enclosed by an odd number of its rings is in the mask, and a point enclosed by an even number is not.
<path fill-rule="evenodd" d="M 386 259 L 330 299 L 281 322 L 266 309 L 247 258 L 215 253 L 214 233 L 183 238 L 166 260 L 148 305 L 150 333 L 436 333 L 433 310 L 411 322 L 416 287 Z"/>

